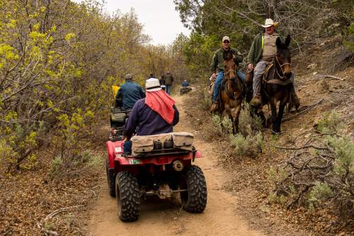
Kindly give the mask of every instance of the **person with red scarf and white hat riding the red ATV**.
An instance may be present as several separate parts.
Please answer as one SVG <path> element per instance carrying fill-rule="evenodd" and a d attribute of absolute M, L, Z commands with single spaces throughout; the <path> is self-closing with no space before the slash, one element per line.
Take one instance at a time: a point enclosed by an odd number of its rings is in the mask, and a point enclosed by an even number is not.
<path fill-rule="evenodd" d="M 175 101 L 161 90 L 159 79 L 147 79 L 145 88 L 147 97 L 140 99 L 132 108 L 125 124 L 125 135 L 156 135 L 173 132 L 173 126 L 179 121 Z"/>

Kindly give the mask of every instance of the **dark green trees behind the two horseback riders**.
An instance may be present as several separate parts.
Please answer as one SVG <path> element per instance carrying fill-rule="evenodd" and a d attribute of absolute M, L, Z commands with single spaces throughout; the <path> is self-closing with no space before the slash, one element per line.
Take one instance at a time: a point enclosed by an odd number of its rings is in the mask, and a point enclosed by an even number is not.
<path fill-rule="evenodd" d="M 353 49 L 352 0 L 174 0 L 180 16 L 193 33 L 184 48 L 191 69 L 209 72 L 212 53 L 223 35 L 246 57 L 265 18 L 279 22 L 278 31 L 292 35 L 292 48 L 301 52 L 321 38 L 338 38 Z M 350 23 L 352 25 L 350 26 Z M 203 56 L 201 56 L 203 55 Z M 351 55 L 350 55 L 351 56 Z M 352 58 L 352 57 L 349 57 Z M 348 59 L 348 57 L 346 57 Z M 246 61 L 246 60 L 245 60 Z M 207 73 L 205 73 L 207 74 Z"/>

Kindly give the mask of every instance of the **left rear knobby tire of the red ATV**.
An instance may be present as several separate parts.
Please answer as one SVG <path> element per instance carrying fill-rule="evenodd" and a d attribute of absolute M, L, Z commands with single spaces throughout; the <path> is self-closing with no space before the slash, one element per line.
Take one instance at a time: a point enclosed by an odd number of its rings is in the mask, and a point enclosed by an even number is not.
<path fill-rule="evenodd" d="M 115 195 L 118 203 L 118 216 L 124 222 L 139 218 L 140 190 L 137 177 L 127 171 L 120 172 L 115 178 Z"/>

